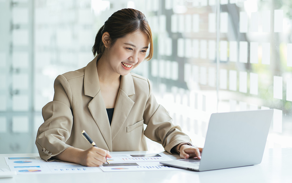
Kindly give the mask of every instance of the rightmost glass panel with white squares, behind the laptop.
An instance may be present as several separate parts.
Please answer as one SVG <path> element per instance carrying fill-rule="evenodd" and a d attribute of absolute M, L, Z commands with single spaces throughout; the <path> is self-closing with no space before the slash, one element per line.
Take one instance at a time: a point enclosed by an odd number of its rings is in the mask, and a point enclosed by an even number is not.
<path fill-rule="evenodd" d="M 221 1 L 222 2 L 222 1 Z M 220 68 L 229 73 L 229 88 L 220 89 L 219 106 L 229 103 L 230 109 L 254 110 L 274 108 L 270 147 L 291 147 L 285 140 L 291 133 L 291 6 L 280 1 L 234 2 L 220 6 L 230 16 L 227 34 L 220 42 L 229 42 L 229 62 Z M 289 23 L 288 23 L 289 24 Z M 239 25 L 239 27 L 238 27 Z M 288 37 L 287 37 L 288 36 Z M 238 41 L 238 48 L 234 47 Z M 233 45 L 233 46 L 232 46 Z M 237 61 L 235 52 L 238 52 Z M 238 73 L 238 74 L 236 74 Z M 239 89 L 236 89 L 236 85 Z M 218 112 L 224 111 L 223 107 Z"/>

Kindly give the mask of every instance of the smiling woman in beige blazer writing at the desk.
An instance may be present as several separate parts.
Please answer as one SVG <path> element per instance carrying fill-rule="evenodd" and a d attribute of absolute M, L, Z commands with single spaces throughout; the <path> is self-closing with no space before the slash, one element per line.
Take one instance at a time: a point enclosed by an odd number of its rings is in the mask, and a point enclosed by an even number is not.
<path fill-rule="evenodd" d="M 36 137 L 42 159 L 100 166 L 111 157 L 110 151 L 147 150 L 145 137 L 181 158 L 200 158 L 202 149 L 187 143 L 190 138 L 171 123 L 151 93 L 149 80 L 130 73 L 153 55 L 143 13 L 113 13 L 98 31 L 92 51 L 97 56 L 86 67 L 55 80 L 54 98 L 42 109 L 44 123 Z M 82 137 L 83 130 L 98 147 Z"/>

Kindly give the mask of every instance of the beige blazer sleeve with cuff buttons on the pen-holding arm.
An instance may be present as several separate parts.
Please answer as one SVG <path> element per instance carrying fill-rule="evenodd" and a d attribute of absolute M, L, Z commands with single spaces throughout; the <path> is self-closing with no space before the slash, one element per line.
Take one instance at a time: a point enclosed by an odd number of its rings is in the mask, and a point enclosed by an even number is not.
<path fill-rule="evenodd" d="M 36 135 L 39 155 L 46 161 L 63 152 L 70 145 L 65 142 L 71 134 L 73 115 L 71 111 L 72 93 L 67 79 L 59 75 L 54 82 L 54 99 L 42 109 L 44 123 Z"/>

